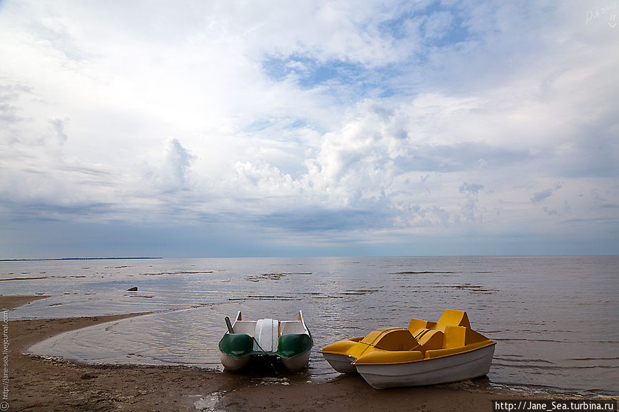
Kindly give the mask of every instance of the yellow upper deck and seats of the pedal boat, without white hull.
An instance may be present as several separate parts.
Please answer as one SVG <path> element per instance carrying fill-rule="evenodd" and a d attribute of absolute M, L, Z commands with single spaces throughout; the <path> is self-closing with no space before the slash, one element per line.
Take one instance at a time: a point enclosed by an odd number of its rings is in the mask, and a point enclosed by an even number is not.
<path fill-rule="evenodd" d="M 411 319 L 408 328 L 380 328 L 328 345 L 323 354 L 348 356 L 353 365 L 424 361 L 493 345 L 470 328 L 464 310 L 444 310 L 437 322 Z"/>

